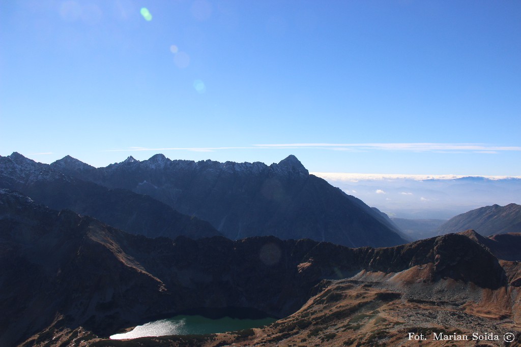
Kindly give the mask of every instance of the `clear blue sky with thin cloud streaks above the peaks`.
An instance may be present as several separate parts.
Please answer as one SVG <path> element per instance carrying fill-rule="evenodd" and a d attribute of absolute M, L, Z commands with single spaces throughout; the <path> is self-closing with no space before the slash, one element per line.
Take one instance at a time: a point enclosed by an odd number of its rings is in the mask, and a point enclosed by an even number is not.
<path fill-rule="evenodd" d="M 519 37 L 517 1 L 0 0 L 0 155 L 521 175 Z"/>

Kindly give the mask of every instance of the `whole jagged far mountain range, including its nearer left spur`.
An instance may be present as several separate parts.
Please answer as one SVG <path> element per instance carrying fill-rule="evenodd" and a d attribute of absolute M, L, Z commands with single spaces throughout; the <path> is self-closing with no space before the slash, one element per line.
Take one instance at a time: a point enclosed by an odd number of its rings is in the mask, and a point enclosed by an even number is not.
<path fill-rule="evenodd" d="M 0 158 L 0 187 L 151 237 L 273 235 L 350 247 L 406 242 L 386 215 L 310 175 L 294 156 L 268 166 L 157 154 L 96 169 L 69 156 L 47 165 L 15 152 Z"/>

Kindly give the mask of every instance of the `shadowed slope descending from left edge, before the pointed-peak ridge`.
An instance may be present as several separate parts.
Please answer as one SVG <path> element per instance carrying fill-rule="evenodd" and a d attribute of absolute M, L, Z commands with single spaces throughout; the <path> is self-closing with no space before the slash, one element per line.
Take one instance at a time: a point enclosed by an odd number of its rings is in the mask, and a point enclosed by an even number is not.
<path fill-rule="evenodd" d="M 220 235 L 209 223 L 183 215 L 149 196 L 82 181 L 19 153 L 0 157 L 0 188 L 20 191 L 53 209 L 94 216 L 132 234 L 172 238 Z"/>

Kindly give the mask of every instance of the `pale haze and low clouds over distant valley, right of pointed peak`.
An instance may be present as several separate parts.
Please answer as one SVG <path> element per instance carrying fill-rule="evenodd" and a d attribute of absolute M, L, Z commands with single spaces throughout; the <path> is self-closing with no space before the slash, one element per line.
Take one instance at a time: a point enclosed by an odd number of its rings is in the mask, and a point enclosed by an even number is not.
<path fill-rule="evenodd" d="M 487 205 L 521 202 L 521 176 L 312 174 L 391 217 L 450 219 Z"/>

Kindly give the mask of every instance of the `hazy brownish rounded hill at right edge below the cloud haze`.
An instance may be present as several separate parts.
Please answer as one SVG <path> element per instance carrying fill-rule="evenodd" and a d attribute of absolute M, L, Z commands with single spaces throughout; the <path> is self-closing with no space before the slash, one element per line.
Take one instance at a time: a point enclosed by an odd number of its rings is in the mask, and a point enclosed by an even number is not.
<path fill-rule="evenodd" d="M 521 205 L 481 207 L 452 217 L 438 229 L 438 235 L 474 229 L 483 236 L 521 233 Z"/>

